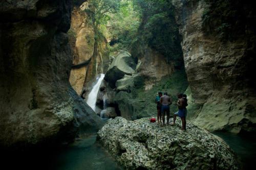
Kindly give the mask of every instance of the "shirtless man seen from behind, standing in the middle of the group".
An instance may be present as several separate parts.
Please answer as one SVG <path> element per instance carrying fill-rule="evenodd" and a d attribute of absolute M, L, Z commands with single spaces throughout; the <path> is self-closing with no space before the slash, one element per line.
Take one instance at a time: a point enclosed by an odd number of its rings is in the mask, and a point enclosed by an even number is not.
<path fill-rule="evenodd" d="M 170 105 L 172 104 L 172 99 L 170 96 L 168 96 L 167 92 L 164 92 L 163 96 L 160 98 L 160 104 L 161 104 L 161 112 L 162 112 L 162 119 L 163 119 L 163 125 L 165 125 L 165 113 L 167 115 L 167 122 L 166 124 L 169 124 L 169 118 L 170 118 Z"/>

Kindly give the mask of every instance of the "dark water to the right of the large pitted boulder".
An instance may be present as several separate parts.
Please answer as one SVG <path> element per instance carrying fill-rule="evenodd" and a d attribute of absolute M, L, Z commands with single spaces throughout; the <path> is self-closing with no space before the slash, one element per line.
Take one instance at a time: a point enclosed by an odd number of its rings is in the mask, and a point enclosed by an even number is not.
<path fill-rule="evenodd" d="M 243 169 L 255 169 L 256 141 L 254 138 L 239 136 L 225 132 L 214 132 L 240 157 Z"/>

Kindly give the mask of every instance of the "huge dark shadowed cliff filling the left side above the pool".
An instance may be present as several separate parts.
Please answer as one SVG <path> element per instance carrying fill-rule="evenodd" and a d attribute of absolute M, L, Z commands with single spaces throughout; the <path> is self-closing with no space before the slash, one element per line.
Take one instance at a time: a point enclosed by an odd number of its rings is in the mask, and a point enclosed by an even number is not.
<path fill-rule="evenodd" d="M 71 1 L 0 3 L 0 145 L 72 140 L 100 119 L 69 83 Z"/>

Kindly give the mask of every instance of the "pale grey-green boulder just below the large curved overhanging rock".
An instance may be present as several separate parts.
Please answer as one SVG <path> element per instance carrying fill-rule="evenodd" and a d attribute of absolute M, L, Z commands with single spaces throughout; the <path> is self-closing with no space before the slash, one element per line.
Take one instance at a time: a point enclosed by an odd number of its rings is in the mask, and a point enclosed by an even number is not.
<path fill-rule="evenodd" d="M 116 90 L 117 91 L 130 91 L 134 88 L 134 79 L 133 76 L 124 75 L 122 79 L 116 81 Z"/>

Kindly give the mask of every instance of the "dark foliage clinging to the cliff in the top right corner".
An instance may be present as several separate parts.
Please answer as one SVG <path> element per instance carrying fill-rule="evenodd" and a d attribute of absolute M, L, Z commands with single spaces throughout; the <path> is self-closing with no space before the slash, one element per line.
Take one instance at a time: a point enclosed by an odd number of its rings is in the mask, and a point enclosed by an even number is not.
<path fill-rule="evenodd" d="M 246 31 L 247 1 L 204 0 L 209 7 L 203 11 L 203 29 L 216 33 L 222 40 L 234 40 Z M 246 5 L 247 4 L 247 5 Z M 248 8 L 247 6 L 246 8 Z"/>

